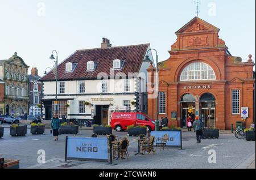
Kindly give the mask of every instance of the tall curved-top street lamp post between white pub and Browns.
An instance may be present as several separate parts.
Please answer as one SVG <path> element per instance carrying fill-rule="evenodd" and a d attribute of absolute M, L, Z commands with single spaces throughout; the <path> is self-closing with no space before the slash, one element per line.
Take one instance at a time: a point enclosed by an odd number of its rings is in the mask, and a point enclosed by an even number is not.
<path fill-rule="evenodd" d="M 148 52 L 150 52 L 150 50 L 154 50 L 156 52 L 156 92 L 155 92 L 155 106 L 156 106 L 156 126 L 155 126 L 155 131 L 159 131 L 158 125 L 159 125 L 159 121 L 158 121 L 158 52 L 155 49 L 149 49 L 147 51 L 147 55 L 144 59 L 144 62 L 152 62 L 151 59 L 148 56 Z"/>

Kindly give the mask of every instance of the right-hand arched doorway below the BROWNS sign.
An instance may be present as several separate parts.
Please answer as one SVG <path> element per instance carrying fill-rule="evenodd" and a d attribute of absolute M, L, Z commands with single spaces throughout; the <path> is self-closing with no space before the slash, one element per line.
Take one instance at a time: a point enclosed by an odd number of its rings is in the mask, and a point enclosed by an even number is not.
<path fill-rule="evenodd" d="M 216 127 L 216 98 L 211 93 L 204 93 L 200 97 L 201 121 L 205 127 Z"/>

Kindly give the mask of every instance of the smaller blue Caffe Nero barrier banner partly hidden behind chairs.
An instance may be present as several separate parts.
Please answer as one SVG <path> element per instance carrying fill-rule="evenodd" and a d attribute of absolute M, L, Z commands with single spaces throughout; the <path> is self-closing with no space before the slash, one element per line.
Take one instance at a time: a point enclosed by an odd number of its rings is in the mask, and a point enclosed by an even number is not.
<path fill-rule="evenodd" d="M 155 144 L 161 143 L 163 136 L 167 134 L 169 140 L 166 143 L 167 147 L 177 147 L 182 149 L 181 131 L 152 131 L 151 136 L 155 136 Z"/>

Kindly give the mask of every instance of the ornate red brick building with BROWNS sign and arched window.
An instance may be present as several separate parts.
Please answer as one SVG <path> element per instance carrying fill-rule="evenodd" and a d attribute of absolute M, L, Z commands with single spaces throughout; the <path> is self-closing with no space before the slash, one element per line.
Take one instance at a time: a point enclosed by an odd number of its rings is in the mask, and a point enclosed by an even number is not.
<path fill-rule="evenodd" d="M 193 18 L 176 32 L 171 57 L 159 63 L 159 117 L 168 116 L 169 125 L 186 127 L 189 114 L 198 116 L 205 127 L 230 129 L 241 121 L 241 108 L 249 108 L 245 120 L 254 117 L 254 63 L 233 57 L 218 36 L 220 29 Z M 148 68 L 154 82 L 155 68 Z M 148 115 L 155 117 L 154 83 L 148 84 Z M 153 96 L 154 97 L 154 96 Z"/>

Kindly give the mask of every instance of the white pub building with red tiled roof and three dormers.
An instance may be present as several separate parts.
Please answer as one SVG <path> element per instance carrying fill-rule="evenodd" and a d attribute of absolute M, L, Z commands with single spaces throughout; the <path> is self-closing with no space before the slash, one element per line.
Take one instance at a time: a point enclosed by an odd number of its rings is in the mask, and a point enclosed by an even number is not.
<path fill-rule="evenodd" d="M 149 49 L 149 44 L 112 47 L 104 38 L 101 48 L 77 50 L 58 66 L 57 103 L 53 72 L 40 79 L 45 118 L 65 114 L 68 119 L 94 118 L 108 125 L 114 107 L 147 113 L 149 64 L 143 59 Z"/>

